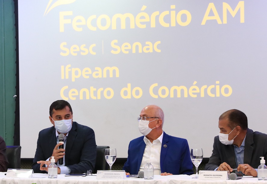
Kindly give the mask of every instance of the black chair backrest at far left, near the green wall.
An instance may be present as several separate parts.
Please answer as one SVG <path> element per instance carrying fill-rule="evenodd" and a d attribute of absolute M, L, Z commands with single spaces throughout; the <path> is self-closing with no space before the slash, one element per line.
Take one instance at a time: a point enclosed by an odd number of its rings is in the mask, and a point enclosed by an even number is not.
<path fill-rule="evenodd" d="M 7 146 L 8 169 L 20 169 L 21 146 Z"/>

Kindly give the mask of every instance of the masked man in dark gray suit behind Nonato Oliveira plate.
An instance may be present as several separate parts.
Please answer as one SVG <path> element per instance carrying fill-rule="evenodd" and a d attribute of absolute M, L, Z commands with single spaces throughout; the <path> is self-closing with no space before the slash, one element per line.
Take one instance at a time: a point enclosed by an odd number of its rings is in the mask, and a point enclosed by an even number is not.
<path fill-rule="evenodd" d="M 267 135 L 247 128 L 247 116 L 236 109 L 222 113 L 219 129 L 205 170 L 232 172 L 237 168 L 245 175 L 256 177 L 259 157 L 267 160 Z"/>

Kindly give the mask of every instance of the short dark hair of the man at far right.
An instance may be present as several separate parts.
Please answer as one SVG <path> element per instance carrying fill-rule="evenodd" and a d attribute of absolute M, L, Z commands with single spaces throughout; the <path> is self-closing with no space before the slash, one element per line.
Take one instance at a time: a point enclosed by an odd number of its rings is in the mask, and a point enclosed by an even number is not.
<path fill-rule="evenodd" d="M 244 114 L 244 112 L 241 112 L 237 109 L 231 109 L 222 113 L 222 115 L 219 117 L 219 120 L 225 118 L 228 118 L 228 126 L 231 129 L 234 129 L 236 126 L 240 126 L 242 130 L 247 130 L 247 116 Z"/>

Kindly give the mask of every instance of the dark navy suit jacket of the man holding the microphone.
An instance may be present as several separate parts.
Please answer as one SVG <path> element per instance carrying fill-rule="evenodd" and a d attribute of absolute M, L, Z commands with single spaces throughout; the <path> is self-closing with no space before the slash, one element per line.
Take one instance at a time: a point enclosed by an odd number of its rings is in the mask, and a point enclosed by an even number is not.
<path fill-rule="evenodd" d="M 57 138 L 54 126 L 39 132 L 32 165 L 34 173 L 46 173 L 46 171 L 40 170 L 40 164 L 37 164 L 37 161 L 47 160 L 51 157 L 56 144 Z M 73 122 L 66 142 L 65 166 L 71 169 L 71 173 L 93 171 L 97 154 L 96 148 L 94 130 Z"/>

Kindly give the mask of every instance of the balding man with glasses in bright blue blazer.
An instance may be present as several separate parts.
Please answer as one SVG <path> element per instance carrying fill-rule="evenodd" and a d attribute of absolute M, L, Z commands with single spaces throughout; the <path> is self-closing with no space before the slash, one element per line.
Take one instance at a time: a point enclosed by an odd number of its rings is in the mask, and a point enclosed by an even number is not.
<path fill-rule="evenodd" d="M 162 109 L 155 105 L 146 106 L 138 119 L 139 130 L 144 136 L 130 141 L 123 167 L 126 174 L 138 174 L 147 159 L 151 160 L 155 175 L 193 174 L 187 140 L 169 136 L 162 130 Z"/>

